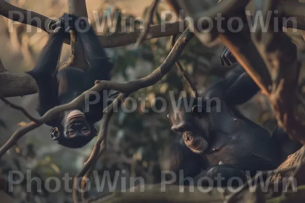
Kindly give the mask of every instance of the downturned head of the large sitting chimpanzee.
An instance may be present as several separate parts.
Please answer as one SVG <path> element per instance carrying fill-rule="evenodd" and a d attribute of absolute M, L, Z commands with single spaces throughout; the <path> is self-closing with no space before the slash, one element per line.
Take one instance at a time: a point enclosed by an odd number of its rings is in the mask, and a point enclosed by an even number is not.
<path fill-rule="evenodd" d="M 187 101 L 190 100 L 190 97 L 183 97 L 179 100 L 181 99 Z M 179 100 L 177 104 L 179 104 Z M 168 118 L 171 130 L 180 133 L 186 146 L 193 152 L 202 153 L 208 148 L 209 114 L 202 106 L 195 105 L 196 102 L 189 111 L 184 104 L 184 101 L 181 101 L 179 108 L 172 108 L 170 111 Z"/>

